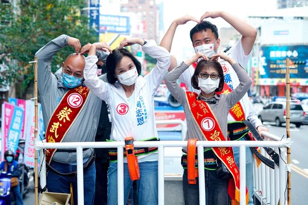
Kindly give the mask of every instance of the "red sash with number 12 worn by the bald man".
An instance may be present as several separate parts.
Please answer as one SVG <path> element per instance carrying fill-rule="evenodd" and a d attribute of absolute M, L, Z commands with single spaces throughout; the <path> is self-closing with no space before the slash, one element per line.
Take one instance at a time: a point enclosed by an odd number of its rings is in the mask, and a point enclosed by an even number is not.
<path fill-rule="evenodd" d="M 62 97 L 49 120 L 47 142 L 61 142 L 69 131 L 75 119 L 79 116 L 87 101 L 89 89 L 78 87 L 70 89 Z M 46 162 L 50 163 L 56 149 L 46 149 Z"/>

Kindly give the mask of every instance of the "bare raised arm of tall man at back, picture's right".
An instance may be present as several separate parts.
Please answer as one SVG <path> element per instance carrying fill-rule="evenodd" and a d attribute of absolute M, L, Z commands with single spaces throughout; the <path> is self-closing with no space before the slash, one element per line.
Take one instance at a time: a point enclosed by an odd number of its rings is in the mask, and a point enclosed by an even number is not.
<path fill-rule="evenodd" d="M 257 30 L 253 26 L 244 22 L 244 20 L 230 15 L 229 13 L 224 11 L 207 11 L 202 15 L 199 22 L 202 22 L 204 18 L 208 17 L 222 17 L 227 23 L 233 26 L 233 28 L 235 28 L 242 35 L 242 46 L 245 55 L 248 55 L 252 51 L 257 37 Z"/>

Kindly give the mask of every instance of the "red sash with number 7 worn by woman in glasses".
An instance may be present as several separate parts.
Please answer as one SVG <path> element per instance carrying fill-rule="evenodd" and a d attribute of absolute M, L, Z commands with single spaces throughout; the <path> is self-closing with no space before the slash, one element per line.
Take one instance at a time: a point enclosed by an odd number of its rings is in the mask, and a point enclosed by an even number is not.
<path fill-rule="evenodd" d="M 194 116 L 199 130 L 203 133 L 207 141 L 225 141 L 220 129 L 218 120 L 211 111 L 210 107 L 202 100 L 197 100 L 198 94 L 186 92 L 186 100 L 189 110 Z M 240 175 L 235 163 L 232 147 L 213 147 L 211 148 L 216 156 L 224 163 L 232 174 L 233 179 L 229 180 L 228 194 L 232 199 L 232 204 L 239 204 L 240 201 Z M 246 189 L 246 203 L 248 203 L 248 191 Z"/>

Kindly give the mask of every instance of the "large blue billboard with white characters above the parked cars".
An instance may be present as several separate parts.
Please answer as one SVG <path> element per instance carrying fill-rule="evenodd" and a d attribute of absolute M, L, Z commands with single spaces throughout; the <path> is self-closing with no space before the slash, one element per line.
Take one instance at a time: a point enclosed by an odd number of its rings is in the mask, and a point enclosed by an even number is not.
<path fill-rule="evenodd" d="M 290 58 L 291 78 L 308 78 L 308 45 L 262 46 L 259 72 L 261 78 L 285 78 L 285 59 Z"/>

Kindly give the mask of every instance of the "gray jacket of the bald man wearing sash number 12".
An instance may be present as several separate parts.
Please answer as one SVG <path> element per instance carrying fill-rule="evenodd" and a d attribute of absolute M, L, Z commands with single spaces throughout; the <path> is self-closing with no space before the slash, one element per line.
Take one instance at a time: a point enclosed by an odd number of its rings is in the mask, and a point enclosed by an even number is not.
<path fill-rule="evenodd" d="M 59 104 L 63 95 L 68 91 L 62 84 L 61 72 L 53 74 L 50 66 L 52 56 L 55 52 L 67 46 L 68 37 L 67 35 L 61 35 L 51 40 L 47 45 L 35 53 L 35 57 L 37 57 L 38 97 L 42 104 L 45 128 L 47 128 L 49 119 L 57 104 Z M 95 140 L 102 100 L 91 93 L 91 91 L 88 98 L 86 105 L 67 132 L 63 142 Z M 83 153 L 84 159 L 88 158 L 92 152 L 93 149 L 85 150 Z M 76 162 L 76 153 L 56 152 L 52 159 L 62 163 L 74 163 Z"/>

